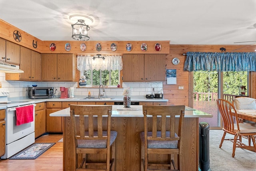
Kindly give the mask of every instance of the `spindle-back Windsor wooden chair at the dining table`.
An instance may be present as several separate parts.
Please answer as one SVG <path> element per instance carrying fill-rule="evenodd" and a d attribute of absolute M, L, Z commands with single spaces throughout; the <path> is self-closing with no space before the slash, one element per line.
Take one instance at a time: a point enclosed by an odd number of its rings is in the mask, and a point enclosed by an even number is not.
<path fill-rule="evenodd" d="M 256 135 L 256 127 L 252 126 L 250 123 L 240 123 L 237 111 L 234 105 L 225 99 L 217 99 L 217 106 L 220 112 L 220 115 L 223 120 L 224 131 L 222 139 L 220 141 L 220 148 L 224 140 L 233 142 L 233 152 L 232 157 L 235 156 L 236 148 L 252 149 L 256 151 L 256 143 L 254 135 Z M 233 119 L 234 117 L 234 119 Z M 226 133 L 234 135 L 233 139 L 225 139 Z M 240 136 L 248 136 L 252 139 L 253 146 L 246 145 L 239 140 Z"/>

